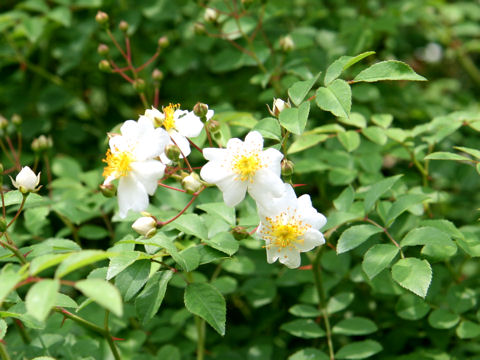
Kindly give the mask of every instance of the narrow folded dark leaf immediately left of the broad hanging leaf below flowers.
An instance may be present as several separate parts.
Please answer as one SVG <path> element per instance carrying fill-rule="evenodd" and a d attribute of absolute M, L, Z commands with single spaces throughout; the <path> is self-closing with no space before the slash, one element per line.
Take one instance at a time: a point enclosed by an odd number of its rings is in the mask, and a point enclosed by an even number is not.
<path fill-rule="evenodd" d="M 135 299 L 135 310 L 143 324 L 149 322 L 162 305 L 167 285 L 173 276 L 173 271 L 165 270 L 155 273 L 145 285 L 145 288 Z"/>

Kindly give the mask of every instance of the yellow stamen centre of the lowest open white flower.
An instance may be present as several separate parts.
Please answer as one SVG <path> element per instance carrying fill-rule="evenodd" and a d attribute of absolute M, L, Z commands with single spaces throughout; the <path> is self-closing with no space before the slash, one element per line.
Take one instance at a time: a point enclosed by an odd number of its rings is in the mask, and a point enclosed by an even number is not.
<path fill-rule="evenodd" d="M 265 219 L 267 221 L 263 224 L 262 237 L 267 240 L 267 246 L 275 246 L 278 251 L 287 247 L 295 248 L 296 243 L 302 243 L 301 237 L 311 227 L 298 218 L 296 210 L 293 210 L 292 214 L 287 209 L 274 218 Z"/>

